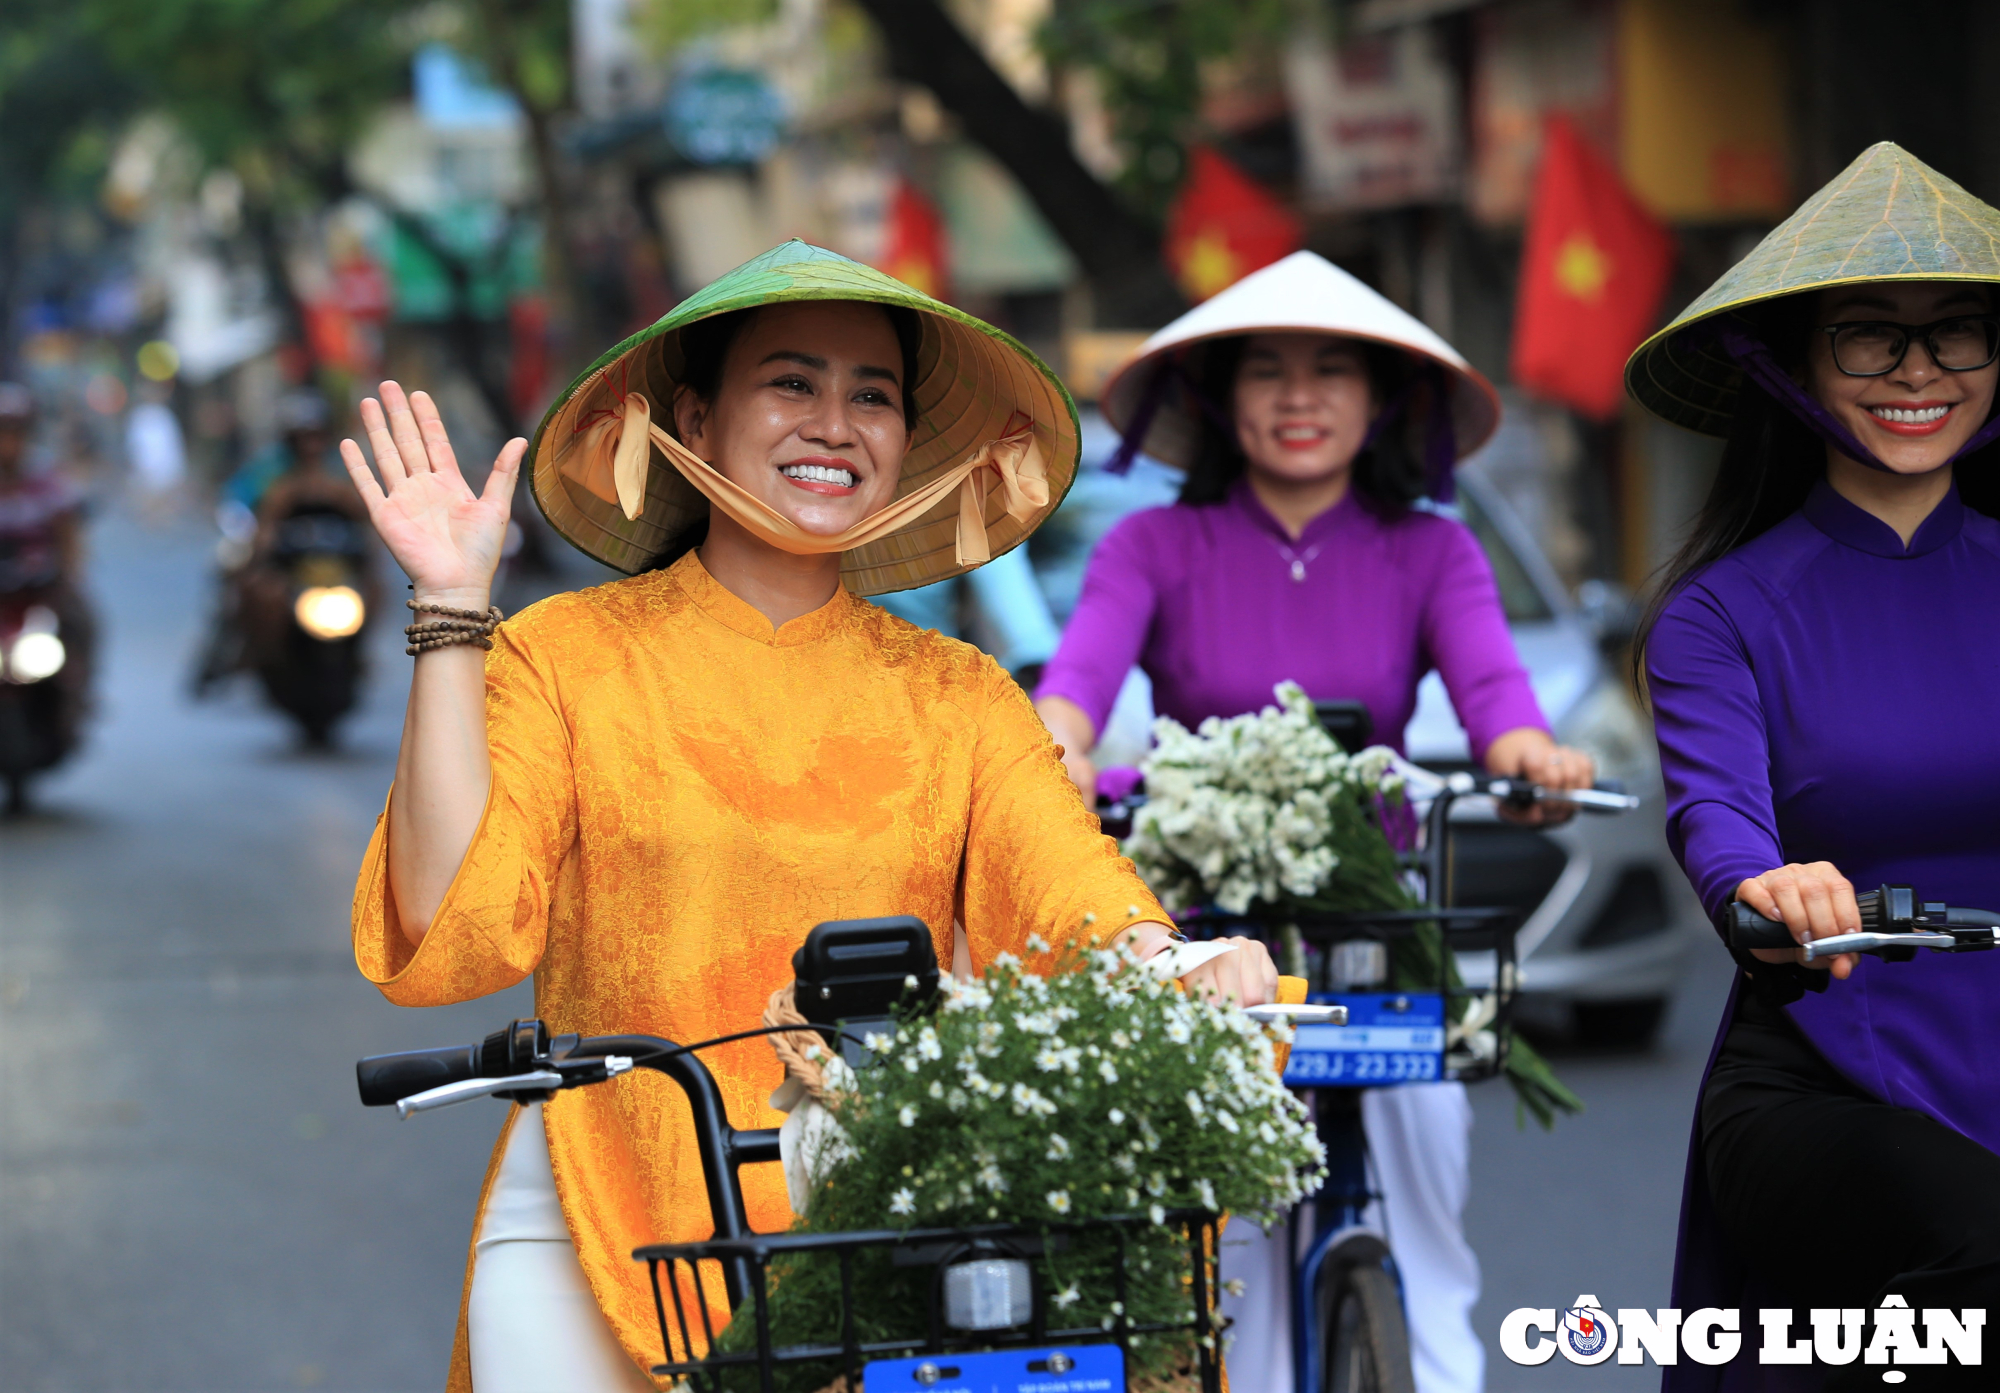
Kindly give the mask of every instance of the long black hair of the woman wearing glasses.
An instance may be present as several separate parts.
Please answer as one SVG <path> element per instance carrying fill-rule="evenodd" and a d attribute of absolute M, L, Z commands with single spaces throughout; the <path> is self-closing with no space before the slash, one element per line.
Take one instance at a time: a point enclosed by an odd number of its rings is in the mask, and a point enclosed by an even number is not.
<path fill-rule="evenodd" d="M 1778 366 L 1796 378 L 1806 368 L 1816 312 L 1818 296 L 1790 294 L 1740 312 L 1740 318 L 1770 346 Z M 1632 672 L 1640 686 L 1646 680 L 1646 638 L 1680 588 L 1798 512 L 1824 474 L 1826 440 L 1744 376 L 1716 482 L 1694 516 L 1688 540 L 1656 572 L 1652 596 L 1632 636 Z M 2000 516 L 2000 442 L 1964 456 L 1952 466 L 1952 474 L 1958 498 L 1968 508 Z"/>

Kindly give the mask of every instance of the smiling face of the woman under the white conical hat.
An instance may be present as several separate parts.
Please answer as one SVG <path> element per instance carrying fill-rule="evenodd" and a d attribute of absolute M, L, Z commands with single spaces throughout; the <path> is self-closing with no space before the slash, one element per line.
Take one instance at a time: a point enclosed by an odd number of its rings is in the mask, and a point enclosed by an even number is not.
<path fill-rule="evenodd" d="M 1252 334 L 1234 396 L 1252 472 L 1294 484 L 1352 468 L 1376 412 L 1360 344 L 1332 334 Z"/>

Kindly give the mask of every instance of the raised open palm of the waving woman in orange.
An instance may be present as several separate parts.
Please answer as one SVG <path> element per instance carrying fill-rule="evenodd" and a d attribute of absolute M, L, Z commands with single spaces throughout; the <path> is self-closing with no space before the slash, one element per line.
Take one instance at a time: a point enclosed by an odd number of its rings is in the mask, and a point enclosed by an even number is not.
<path fill-rule="evenodd" d="M 514 438 L 500 446 L 486 488 L 476 494 L 458 470 L 430 394 L 404 396 L 396 382 L 382 382 L 380 390 L 380 400 L 362 402 L 362 426 L 382 480 L 376 482 L 354 440 L 340 442 L 340 460 L 368 504 L 368 520 L 420 600 L 486 608 L 528 442 Z"/>

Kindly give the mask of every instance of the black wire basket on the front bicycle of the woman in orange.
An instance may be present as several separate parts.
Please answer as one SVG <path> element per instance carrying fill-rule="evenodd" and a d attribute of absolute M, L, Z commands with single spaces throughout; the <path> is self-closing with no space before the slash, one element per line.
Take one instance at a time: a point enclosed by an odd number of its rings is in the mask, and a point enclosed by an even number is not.
<path fill-rule="evenodd" d="M 862 1385 L 862 1369 L 874 1359 L 902 1359 L 926 1355 L 948 1359 L 952 1355 L 974 1355 L 1008 1349 L 1038 1347 L 1084 1347 L 1116 1345 L 1126 1371 L 1126 1387 L 1132 1385 L 1132 1345 L 1136 1339 L 1158 1339 L 1188 1335 L 1194 1347 L 1194 1373 L 1200 1393 L 1222 1393 L 1222 1363 L 1218 1359 L 1218 1337 L 1222 1321 L 1216 1315 L 1216 1239 L 1220 1215 L 1200 1209 L 1170 1209 L 1166 1225 L 1178 1231 L 1186 1245 L 1188 1271 L 1182 1277 L 1192 1299 L 1190 1315 L 1182 1321 L 1136 1321 L 1128 1319 L 1128 1273 L 1130 1235 L 1134 1229 L 1150 1227 L 1150 1215 L 1112 1215 L 1104 1219 L 1082 1219 L 1076 1223 L 1050 1223 L 1040 1227 L 1022 1225 L 980 1225 L 966 1229 L 910 1229 L 910 1231 L 854 1231 L 854 1233 L 774 1233 L 742 1239 L 708 1239 L 704 1243 L 666 1243 L 642 1247 L 632 1253 L 646 1263 L 652 1277 L 654 1311 L 660 1317 L 660 1341 L 666 1347 L 666 1363 L 654 1365 L 654 1377 L 682 1379 L 696 1393 L 778 1393 L 784 1387 L 824 1389 L 846 1379 L 852 1393 Z M 1048 1253 L 1060 1253 L 1084 1239 L 1102 1237 L 1110 1243 L 1110 1279 L 1114 1293 L 1112 1315 L 1088 1327 L 1066 1327 L 1060 1323 L 1060 1309 L 1044 1277 Z M 838 1281 L 838 1339 L 814 1343 L 788 1343 L 786 1331 L 772 1329 L 772 1263 L 784 1263 L 810 1253 L 830 1253 L 840 1265 Z M 868 1301 L 870 1293 L 856 1293 L 856 1265 L 868 1255 L 886 1257 L 892 1267 L 932 1269 L 928 1287 L 928 1309 L 920 1319 L 912 1315 L 910 1335 L 892 1339 L 862 1339 L 856 1301 Z M 1006 1329 L 956 1329 L 946 1321 L 946 1271 L 958 1263 L 978 1259 L 1026 1259 L 1030 1273 L 1030 1317 Z M 704 1275 L 704 1265 L 708 1273 Z M 708 1297 L 720 1281 L 744 1293 L 734 1299 L 736 1321 L 754 1321 L 756 1347 L 748 1351 L 716 1349 L 716 1329 L 710 1321 Z M 874 1293 L 876 1301 L 882 1293 Z M 688 1309 L 692 1307 L 692 1311 Z M 704 1353 L 696 1353 L 696 1349 Z M 926 1361 L 928 1363 L 928 1361 Z M 806 1371 L 798 1365 L 820 1365 Z M 1050 1373 L 1060 1375 L 1066 1363 L 1056 1363 Z M 794 1371 L 792 1377 L 784 1377 Z M 1030 1365 L 1032 1371 L 1038 1371 Z M 956 1369 L 938 1365 L 934 1375 L 950 1379 Z M 804 1377 L 800 1377 L 804 1375 Z M 922 1367 L 916 1375 L 926 1383 Z M 1060 1379 L 1058 1379 L 1060 1381 Z"/>

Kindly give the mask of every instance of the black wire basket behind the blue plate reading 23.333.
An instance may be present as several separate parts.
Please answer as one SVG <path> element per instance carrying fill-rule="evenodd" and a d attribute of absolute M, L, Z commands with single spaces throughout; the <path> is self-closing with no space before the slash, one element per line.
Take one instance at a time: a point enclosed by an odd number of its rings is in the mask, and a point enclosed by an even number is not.
<path fill-rule="evenodd" d="M 1446 1049 L 1444 1077 L 1460 1083 L 1492 1079 L 1506 1067 L 1514 1045 L 1514 997 L 1520 993 L 1520 967 L 1514 961 L 1514 933 L 1520 911 L 1514 909 L 1384 909 L 1352 915 L 1230 915 L 1204 909 L 1180 921 L 1190 939 L 1224 939 L 1248 933 L 1270 947 L 1284 963 L 1290 931 L 1298 931 L 1304 951 L 1306 983 L 1312 993 L 1380 993 L 1396 997 L 1396 989 L 1352 987 L 1334 977 L 1334 949 L 1342 943 L 1374 941 L 1394 959 L 1398 941 L 1418 935 L 1424 925 L 1436 925 L 1444 943 L 1434 981 L 1404 985 L 1402 991 L 1430 991 L 1444 997 Z M 1482 983 L 1454 981 L 1452 965 L 1460 953 L 1492 953 L 1492 979 Z M 1484 977 L 1484 971 L 1480 973 Z M 1474 1021 L 1470 1029 L 1466 1023 Z M 1336 1085 L 1338 1087 L 1338 1085 Z"/>

